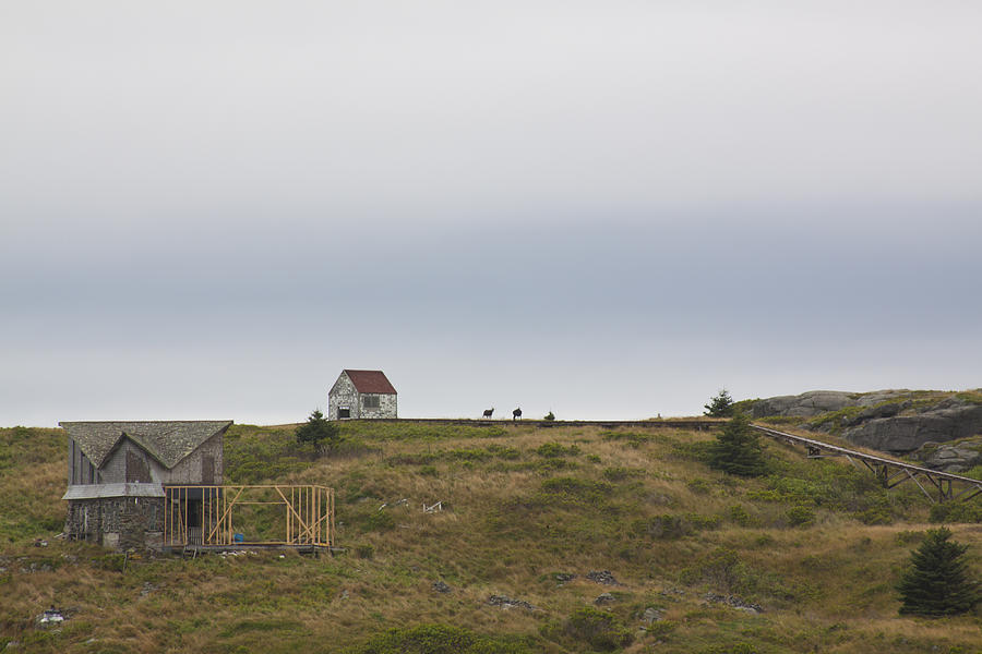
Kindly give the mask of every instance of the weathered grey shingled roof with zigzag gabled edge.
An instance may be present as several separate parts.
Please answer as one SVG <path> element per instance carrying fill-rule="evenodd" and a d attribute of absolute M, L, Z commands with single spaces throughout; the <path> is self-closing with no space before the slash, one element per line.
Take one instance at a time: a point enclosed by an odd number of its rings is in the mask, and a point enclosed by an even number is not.
<path fill-rule="evenodd" d="M 96 468 L 101 468 L 119 441 L 129 438 L 170 470 L 232 421 L 185 420 L 58 423 Z"/>

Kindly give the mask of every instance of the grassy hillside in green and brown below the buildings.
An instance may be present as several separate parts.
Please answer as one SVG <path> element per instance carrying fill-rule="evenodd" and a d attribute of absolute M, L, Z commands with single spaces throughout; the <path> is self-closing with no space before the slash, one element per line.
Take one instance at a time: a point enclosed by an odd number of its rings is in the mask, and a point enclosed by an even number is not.
<path fill-rule="evenodd" d="M 886 493 L 775 443 L 771 475 L 728 477 L 704 463 L 712 434 L 678 428 L 343 428 L 340 451 L 318 459 L 288 426 L 236 425 L 226 475 L 335 487 L 346 554 L 143 557 L 125 570 L 118 555 L 52 538 L 61 432 L 0 429 L 0 649 L 982 651 L 979 615 L 897 614 L 894 584 L 931 526 L 913 485 Z M 443 512 L 422 512 L 438 500 Z M 982 528 L 951 526 L 982 574 Z M 70 619 L 35 628 L 51 605 Z"/>

